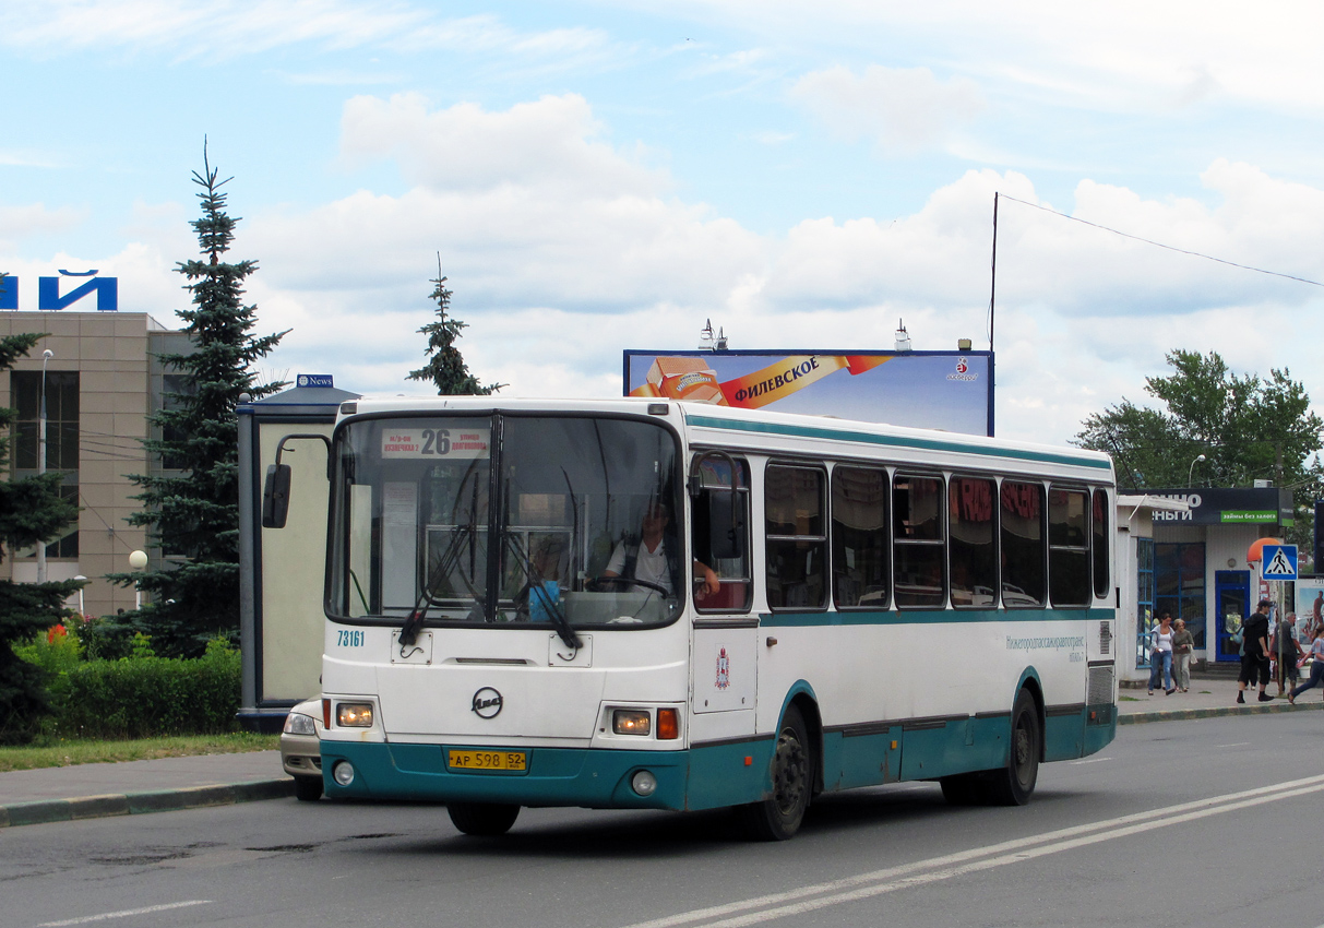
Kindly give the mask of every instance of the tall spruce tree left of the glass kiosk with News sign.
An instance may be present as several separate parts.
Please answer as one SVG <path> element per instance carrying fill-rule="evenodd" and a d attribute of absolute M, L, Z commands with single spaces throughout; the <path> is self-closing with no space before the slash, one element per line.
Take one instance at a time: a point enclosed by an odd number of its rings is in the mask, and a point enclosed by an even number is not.
<path fill-rule="evenodd" d="M 127 629 L 152 637 L 158 654 L 195 657 L 216 635 L 236 637 L 240 618 L 238 565 L 238 417 L 240 394 L 253 398 L 274 393 L 285 384 L 258 384 L 252 365 L 267 355 L 285 332 L 253 336 L 257 307 L 245 306 L 244 281 L 256 261 L 222 261 L 234 238 L 238 218 L 225 212 L 221 188 L 232 179 L 218 172 L 203 148 L 203 216 L 191 222 L 201 257 L 179 262 L 184 289 L 193 308 L 179 310 L 193 343 L 192 353 L 160 355 L 168 369 L 188 376 L 191 389 L 167 393 L 167 409 L 150 421 L 160 438 L 143 443 L 148 453 L 179 474 L 130 475 L 142 494 L 143 508 L 130 516 L 146 526 L 151 541 L 167 560 L 142 573 L 119 573 L 123 585 L 138 584 L 151 601 L 122 617 Z M 177 560 L 176 560 L 177 557 Z"/>

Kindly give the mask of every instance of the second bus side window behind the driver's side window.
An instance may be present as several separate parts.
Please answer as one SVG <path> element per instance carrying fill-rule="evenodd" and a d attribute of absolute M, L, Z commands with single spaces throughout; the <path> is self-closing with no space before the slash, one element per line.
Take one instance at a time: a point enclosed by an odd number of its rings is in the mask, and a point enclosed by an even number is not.
<path fill-rule="evenodd" d="M 886 609 L 887 471 L 838 466 L 831 473 L 833 600 L 838 609 Z"/>

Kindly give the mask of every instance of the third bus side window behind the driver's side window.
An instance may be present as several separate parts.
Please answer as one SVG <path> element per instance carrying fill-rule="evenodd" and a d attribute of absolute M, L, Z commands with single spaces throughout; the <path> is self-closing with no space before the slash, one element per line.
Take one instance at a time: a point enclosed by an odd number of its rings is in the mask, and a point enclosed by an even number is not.
<path fill-rule="evenodd" d="M 902 609 L 941 609 L 947 602 L 943 508 L 941 478 L 892 478 L 892 563 Z"/>

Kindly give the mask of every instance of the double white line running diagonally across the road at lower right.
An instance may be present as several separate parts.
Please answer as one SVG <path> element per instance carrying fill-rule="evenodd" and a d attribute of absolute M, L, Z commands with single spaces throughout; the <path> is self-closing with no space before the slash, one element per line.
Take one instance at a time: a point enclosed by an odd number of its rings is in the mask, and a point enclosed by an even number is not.
<path fill-rule="evenodd" d="M 936 879 L 949 879 L 964 872 L 986 870 L 992 866 L 1004 866 L 1006 863 L 1016 863 L 1042 857 L 1043 854 L 1071 850 L 1074 847 L 1098 843 L 1102 841 L 1111 841 L 1113 838 L 1124 837 L 1125 834 L 1136 834 L 1161 827 L 1164 825 L 1193 821 L 1223 812 L 1234 812 L 1251 805 L 1292 798 L 1305 793 L 1317 792 L 1320 789 L 1324 789 L 1324 776 L 1305 777 L 1268 786 L 1256 786 L 1255 789 L 1247 789 L 1238 793 L 1226 793 L 1223 796 L 1194 800 L 1192 802 L 1182 802 L 1149 812 L 1132 813 L 1129 815 L 1121 815 L 1119 818 L 1092 822 L 1088 825 L 1075 825 L 1057 831 L 1049 831 L 1027 838 L 1017 838 L 998 845 L 989 845 L 986 847 L 976 847 L 940 858 L 900 864 L 886 870 L 875 870 L 869 874 L 859 874 L 857 876 L 846 876 L 837 880 L 829 880 L 826 883 L 805 886 L 798 890 L 788 890 L 786 892 L 776 892 L 767 896 L 745 899 L 743 902 L 727 903 L 724 905 L 712 905 L 708 908 L 692 909 L 690 912 L 681 912 L 662 919 L 654 919 L 651 921 L 636 923 L 628 928 L 674 928 L 675 925 L 692 923 L 703 923 L 708 928 L 736 928 L 737 925 L 780 919 L 788 915 L 822 908 L 824 905 L 850 902 L 851 898 L 866 898 L 880 892 L 906 888 L 908 886 L 932 883 Z M 981 860 L 981 858 L 988 859 Z M 968 863 L 970 860 L 977 863 Z M 964 866 L 953 867 L 952 864 Z M 935 872 L 935 867 L 943 867 L 943 870 Z M 924 874 L 920 871 L 931 872 Z M 831 895 L 825 896 L 825 894 Z M 794 900 L 806 899 L 808 896 L 822 898 L 794 903 Z M 781 905 L 781 903 L 794 904 Z M 765 908 L 768 905 L 779 907 L 769 909 Z M 708 921 L 708 919 L 739 915 L 741 912 L 749 912 L 751 909 L 765 911 L 747 915 L 744 917 L 728 919 L 726 921 Z"/>

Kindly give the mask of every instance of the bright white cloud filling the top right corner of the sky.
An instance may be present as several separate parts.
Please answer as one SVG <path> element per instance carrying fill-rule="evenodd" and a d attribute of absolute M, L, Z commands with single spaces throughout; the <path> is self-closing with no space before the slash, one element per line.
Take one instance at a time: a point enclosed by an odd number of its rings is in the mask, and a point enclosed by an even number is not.
<path fill-rule="evenodd" d="M 1211 95 L 1324 106 L 1324 7 L 1300 0 L 1215 9 L 1200 0 L 673 0 L 669 11 L 695 30 L 719 24 L 782 54 L 891 49 L 892 60 L 941 64 L 986 90 L 996 78 L 1070 106 L 1169 111 Z"/>

